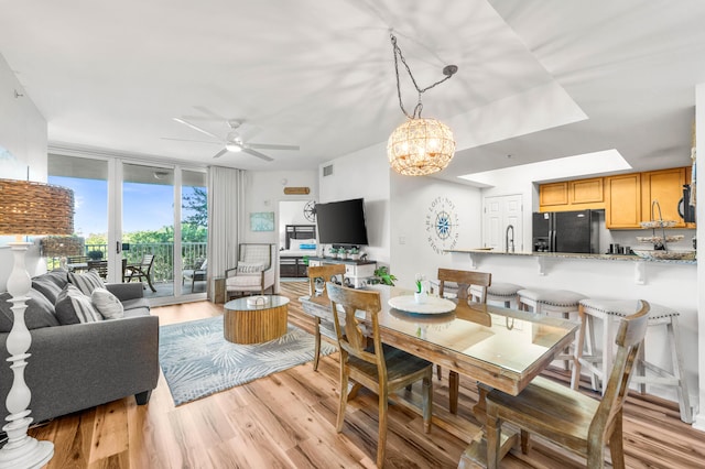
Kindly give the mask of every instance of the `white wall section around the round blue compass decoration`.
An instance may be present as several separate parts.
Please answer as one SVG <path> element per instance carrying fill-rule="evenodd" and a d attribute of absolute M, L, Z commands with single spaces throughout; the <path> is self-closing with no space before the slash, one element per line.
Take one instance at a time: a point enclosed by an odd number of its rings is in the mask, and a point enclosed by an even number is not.
<path fill-rule="evenodd" d="M 480 190 L 433 177 L 408 177 L 391 173 L 391 272 L 400 286 L 413 287 L 415 274 L 437 279 L 438 268 L 451 268 L 458 243 L 479 247 L 481 240 Z M 436 215 L 451 217 L 447 238 L 435 230 Z"/>

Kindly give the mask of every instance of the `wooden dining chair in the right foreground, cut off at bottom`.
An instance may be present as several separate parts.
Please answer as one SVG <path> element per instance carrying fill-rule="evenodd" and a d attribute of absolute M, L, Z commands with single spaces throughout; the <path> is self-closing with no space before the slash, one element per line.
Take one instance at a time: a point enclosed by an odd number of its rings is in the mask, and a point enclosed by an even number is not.
<path fill-rule="evenodd" d="M 499 461 L 501 424 L 521 428 L 521 450 L 529 450 L 529 433 L 541 435 L 587 459 L 588 468 L 604 467 L 603 450 L 609 443 L 612 467 L 625 467 L 622 405 L 631 371 L 647 332 L 649 303 L 619 325 L 617 356 L 601 401 L 538 377 L 517 396 L 494 390 L 487 394 L 487 467 Z"/>

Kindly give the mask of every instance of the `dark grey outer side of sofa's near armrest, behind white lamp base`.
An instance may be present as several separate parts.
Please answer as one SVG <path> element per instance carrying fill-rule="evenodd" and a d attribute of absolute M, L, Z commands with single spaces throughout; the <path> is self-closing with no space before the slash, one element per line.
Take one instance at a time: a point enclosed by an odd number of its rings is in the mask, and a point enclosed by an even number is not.
<path fill-rule="evenodd" d="M 140 285 L 141 286 L 141 285 Z M 30 410 L 41 422 L 132 394 L 149 392 L 159 379 L 159 317 L 139 316 L 34 329 L 25 369 Z M 0 334 L 0 360 L 8 357 Z M 0 395 L 12 384 L 0 367 Z M 4 421 L 7 408 L 0 410 Z"/>

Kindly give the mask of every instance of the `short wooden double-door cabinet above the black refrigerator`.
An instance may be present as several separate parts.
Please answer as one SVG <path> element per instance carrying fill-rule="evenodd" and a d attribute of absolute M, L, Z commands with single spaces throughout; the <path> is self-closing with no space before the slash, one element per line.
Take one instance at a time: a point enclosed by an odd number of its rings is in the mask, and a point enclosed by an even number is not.
<path fill-rule="evenodd" d="M 603 178 L 566 181 L 539 186 L 539 211 L 605 208 Z"/>

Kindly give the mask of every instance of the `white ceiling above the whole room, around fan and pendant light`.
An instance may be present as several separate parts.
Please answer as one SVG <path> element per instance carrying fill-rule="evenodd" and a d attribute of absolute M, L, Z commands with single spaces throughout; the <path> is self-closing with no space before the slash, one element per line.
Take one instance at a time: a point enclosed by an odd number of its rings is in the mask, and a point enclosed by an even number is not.
<path fill-rule="evenodd" d="M 638 171 L 687 165 L 705 83 L 701 0 L 2 3 L 0 54 L 51 145 L 246 170 L 386 142 L 404 120 L 390 30 L 421 87 L 459 67 L 423 95 L 458 142 L 442 178 L 610 149 Z M 246 119 L 251 142 L 301 150 L 214 160 L 223 146 L 173 118 L 224 138 Z"/>

